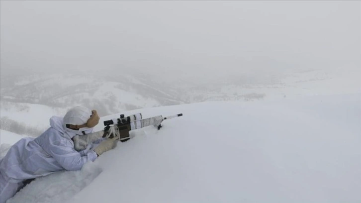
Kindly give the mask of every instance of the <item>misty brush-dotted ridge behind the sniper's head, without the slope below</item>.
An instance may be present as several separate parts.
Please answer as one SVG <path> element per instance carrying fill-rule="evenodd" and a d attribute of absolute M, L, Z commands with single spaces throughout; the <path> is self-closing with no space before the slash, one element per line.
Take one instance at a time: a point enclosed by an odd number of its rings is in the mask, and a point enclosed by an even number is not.
<path fill-rule="evenodd" d="M 119 110 L 180 104 L 172 96 L 127 75 L 122 77 L 44 74 L 3 79 L 1 102 L 26 102 L 69 108 L 97 107 L 107 115 Z"/>

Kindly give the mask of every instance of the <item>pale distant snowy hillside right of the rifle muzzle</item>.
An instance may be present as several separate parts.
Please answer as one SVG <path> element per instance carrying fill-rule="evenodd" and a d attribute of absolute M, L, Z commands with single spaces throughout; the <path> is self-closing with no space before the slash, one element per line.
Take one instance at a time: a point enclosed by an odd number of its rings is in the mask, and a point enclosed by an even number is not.
<path fill-rule="evenodd" d="M 181 90 L 181 99 L 203 101 L 257 101 L 300 96 L 354 94 L 361 92 L 361 69 L 327 72 L 309 70 L 261 75 L 258 73 L 220 78 Z M 205 94 L 206 93 L 206 94 Z"/>

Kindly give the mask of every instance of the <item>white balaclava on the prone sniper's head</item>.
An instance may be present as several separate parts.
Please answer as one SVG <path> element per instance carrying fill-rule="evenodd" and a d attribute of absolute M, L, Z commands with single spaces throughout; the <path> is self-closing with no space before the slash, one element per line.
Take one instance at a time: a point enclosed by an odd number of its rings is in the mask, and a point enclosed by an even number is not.
<path fill-rule="evenodd" d="M 91 117 L 92 112 L 89 108 L 83 106 L 76 106 L 68 110 L 63 118 L 63 128 L 65 131 L 74 132 L 77 135 L 88 134 L 92 131 L 93 128 L 82 127 L 79 130 L 73 130 L 66 126 L 66 124 L 72 125 L 83 125 L 87 123 L 88 119 Z M 83 133 L 84 131 L 84 133 Z"/>

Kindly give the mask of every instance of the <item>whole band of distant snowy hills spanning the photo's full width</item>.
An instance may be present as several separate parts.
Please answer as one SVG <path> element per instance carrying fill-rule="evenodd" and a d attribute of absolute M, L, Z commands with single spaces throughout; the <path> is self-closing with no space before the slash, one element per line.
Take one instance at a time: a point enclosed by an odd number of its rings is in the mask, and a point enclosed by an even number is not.
<path fill-rule="evenodd" d="M 95 76 L 96 75 L 96 76 Z M 206 101 L 259 101 L 302 95 L 360 93 L 360 70 L 327 73 L 310 70 L 260 77 L 257 74 L 216 81 L 162 81 L 146 74 L 72 72 L 1 77 L 0 127 L 38 136 L 51 115 L 82 105 L 101 116 L 132 109 Z M 31 111 L 31 112 L 30 112 Z M 37 113 L 38 112 L 38 113 Z M 37 119 L 32 119 L 33 116 Z"/>

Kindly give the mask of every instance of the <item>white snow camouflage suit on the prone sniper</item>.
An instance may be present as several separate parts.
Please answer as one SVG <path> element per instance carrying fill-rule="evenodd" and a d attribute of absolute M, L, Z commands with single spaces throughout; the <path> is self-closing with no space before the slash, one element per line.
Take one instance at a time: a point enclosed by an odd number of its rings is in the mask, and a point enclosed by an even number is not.
<path fill-rule="evenodd" d="M 0 160 L 0 203 L 14 196 L 27 179 L 60 170 L 80 170 L 86 162 L 96 159 L 96 153 L 89 148 L 81 152 L 74 149 L 72 138 L 76 133 L 63 128 L 63 117 L 51 117 L 50 126 L 37 138 L 16 142 Z"/>

